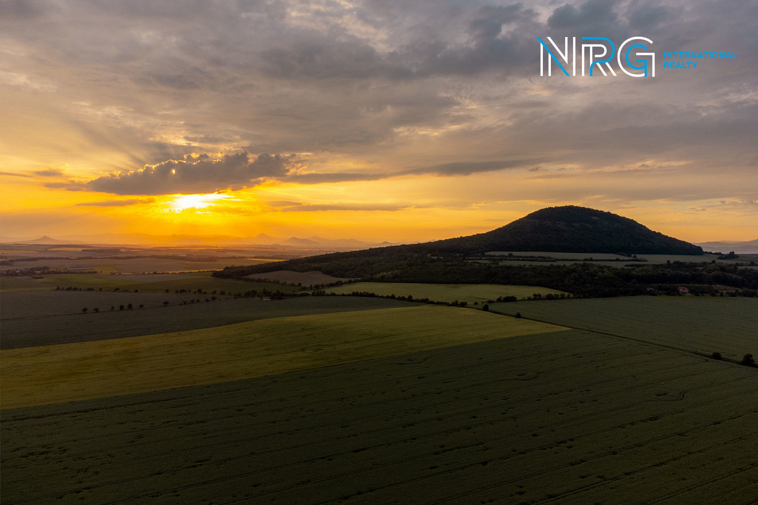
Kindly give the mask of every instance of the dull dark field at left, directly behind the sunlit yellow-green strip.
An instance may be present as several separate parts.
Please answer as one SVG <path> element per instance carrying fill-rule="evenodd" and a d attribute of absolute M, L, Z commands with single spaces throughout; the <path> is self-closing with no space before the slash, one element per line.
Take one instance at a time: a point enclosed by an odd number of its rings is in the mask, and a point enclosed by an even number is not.
<path fill-rule="evenodd" d="M 33 293 L 11 293 L 8 296 L 23 296 L 26 300 L 27 313 L 34 306 L 47 304 L 50 310 L 60 310 L 68 306 L 70 300 L 76 300 L 78 294 L 116 295 L 117 293 L 87 293 L 82 291 L 36 291 Z M 138 297 L 139 295 L 139 297 Z M 139 306 L 137 300 L 143 295 L 158 296 L 151 293 L 121 293 L 122 300 Z M 211 303 L 195 303 L 176 305 L 182 300 L 205 295 L 160 295 L 157 300 L 171 300 L 172 305 L 146 308 L 139 310 L 116 310 L 111 312 L 100 304 L 101 312 L 86 314 L 78 312 L 71 315 L 53 315 L 46 317 L 27 317 L 2 320 L 2 340 L 0 348 L 14 349 L 17 347 L 35 347 L 56 343 L 86 342 L 90 340 L 105 340 L 122 337 L 139 337 L 140 335 L 166 333 L 169 331 L 196 330 L 214 326 L 231 325 L 233 323 L 253 321 L 256 319 L 280 318 L 290 315 L 327 314 L 332 312 L 348 312 L 352 310 L 391 309 L 398 307 L 416 306 L 399 300 L 384 300 L 382 298 L 362 298 L 354 296 L 300 296 L 285 300 L 261 301 L 250 298 L 238 300 L 226 299 Z M 12 300 L 11 297 L 11 300 Z M 5 315 L 5 295 L 0 297 Z M 17 305 L 15 305 L 17 306 Z M 55 307 L 58 306 L 58 309 Z M 74 309 L 77 306 L 74 306 Z M 21 308 L 23 309 L 23 308 Z M 81 310 L 81 309 L 80 309 Z M 104 312 L 105 311 L 105 312 Z M 22 312 L 23 313 L 23 312 Z"/>

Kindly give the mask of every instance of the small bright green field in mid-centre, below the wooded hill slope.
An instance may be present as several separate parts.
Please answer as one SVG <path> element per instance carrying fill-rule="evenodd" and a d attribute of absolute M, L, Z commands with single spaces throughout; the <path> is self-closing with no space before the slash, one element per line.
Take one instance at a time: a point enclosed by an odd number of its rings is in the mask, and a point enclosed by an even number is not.
<path fill-rule="evenodd" d="M 356 282 L 327 288 L 330 293 L 352 293 L 354 291 L 376 293 L 381 296 L 408 296 L 416 299 L 428 298 L 434 302 L 486 302 L 498 296 L 526 298 L 534 293 L 546 295 L 560 294 L 561 291 L 537 286 L 509 286 L 503 284 L 413 284 L 402 282 Z"/>

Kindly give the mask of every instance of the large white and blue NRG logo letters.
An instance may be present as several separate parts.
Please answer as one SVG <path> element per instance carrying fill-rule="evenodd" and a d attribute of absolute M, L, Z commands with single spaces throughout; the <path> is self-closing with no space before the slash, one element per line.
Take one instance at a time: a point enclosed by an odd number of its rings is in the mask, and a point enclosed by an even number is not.
<path fill-rule="evenodd" d="M 568 37 L 563 42 L 563 50 L 556 42 L 547 37 L 551 47 L 543 39 L 537 37 L 540 41 L 540 76 L 545 75 L 547 66 L 547 75 L 553 75 L 553 62 L 567 76 L 575 76 L 577 72 L 577 61 L 581 62 L 581 75 L 585 71 L 589 72 L 592 77 L 593 70 L 600 70 L 604 76 L 610 73 L 612 76 L 618 75 L 612 67 L 612 60 L 615 56 L 618 68 L 631 77 L 656 77 L 656 53 L 649 51 L 647 45 L 641 42 L 652 44 L 653 41 L 645 37 L 630 37 L 619 45 L 616 51 L 615 45 L 611 39 L 606 37 L 581 37 L 581 40 L 594 42 L 581 42 L 579 47 L 579 58 L 577 58 L 576 37 L 571 37 L 571 47 L 568 45 Z M 641 42 L 637 42 L 641 41 Z M 545 53 L 547 52 L 547 58 Z M 631 53 L 631 54 L 630 54 Z M 630 60 L 631 56 L 631 60 Z M 570 57 L 570 58 L 569 58 Z M 547 59 L 547 64 L 545 60 Z M 570 64 L 570 68 L 569 68 Z M 565 66 L 564 66 L 565 65 Z M 603 65 L 605 67 L 603 67 Z M 568 69 L 568 70 L 567 70 Z M 607 72 L 606 72 L 607 70 Z M 569 74 L 569 71 L 571 73 Z"/>

